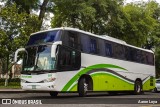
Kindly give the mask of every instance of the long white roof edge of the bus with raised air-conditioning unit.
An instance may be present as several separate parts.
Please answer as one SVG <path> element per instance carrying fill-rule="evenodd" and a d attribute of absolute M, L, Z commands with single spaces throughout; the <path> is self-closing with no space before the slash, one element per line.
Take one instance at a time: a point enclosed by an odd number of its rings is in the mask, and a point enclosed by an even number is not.
<path fill-rule="evenodd" d="M 31 35 L 42 33 L 42 32 L 53 31 L 53 30 L 76 31 L 76 32 L 88 34 L 88 35 L 93 36 L 93 37 L 97 37 L 97 38 L 101 38 L 101 39 L 104 39 L 104 40 L 115 42 L 115 43 L 118 43 L 118 44 L 121 44 L 121 45 L 125 45 L 125 46 L 128 46 L 128 47 L 132 47 L 132 48 L 136 48 L 136 49 L 139 49 L 139 50 L 143 50 L 143 51 L 147 51 L 147 52 L 150 52 L 150 53 L 154 53 L 151 50 L 140 48 L 140 47 L 136 47 L 136 46 L 133 46 L 133 45 L 129 45 L 123 40 L 120 40 L 120 39 L 117 39 L 117 38 L 113 38 L 113 37 L 108 36 L 108 35 L 96 35 L 96 34 L 93 34 L 93 33 L 90 33 L 90 32 L 86 32 L 86 31 L 83 31 L 83 30 L 80 30 L 80 29 L 77 29 L 77 28 L 70 28 L 70 27 L 53 28 L 53 29 L 49 29 L 49 30 L 43 30 L 43 31 L 35 32 L 35 33 L 32 33 Z"/>

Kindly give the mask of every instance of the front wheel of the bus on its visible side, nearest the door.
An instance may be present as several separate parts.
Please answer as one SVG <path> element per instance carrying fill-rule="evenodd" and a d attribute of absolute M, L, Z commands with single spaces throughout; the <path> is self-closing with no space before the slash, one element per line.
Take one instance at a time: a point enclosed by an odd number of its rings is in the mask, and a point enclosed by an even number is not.
<path fill-rule="evenodd" d="M 85 97 L 88 91 L 88 82 L 86 78 L 81 78 L 78 84 L 78 93 L 80 97 Z"/>

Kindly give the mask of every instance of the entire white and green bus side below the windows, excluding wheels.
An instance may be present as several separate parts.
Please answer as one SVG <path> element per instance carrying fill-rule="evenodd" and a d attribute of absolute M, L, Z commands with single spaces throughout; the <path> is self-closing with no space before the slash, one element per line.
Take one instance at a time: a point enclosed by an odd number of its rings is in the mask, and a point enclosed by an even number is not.
<path fill-rule="evenodd" d="M 146 82 L 147 77 L 155 77 L 154 66 L 84 53 L 81 56 L 83 68 L 57 73 L 58 90 L 77 91 L 78 80 L 83 74 L 91 75 L 94 91 L 134 90 L 137 78 L 142 80 L 144 90 L 154 87 Z"/>

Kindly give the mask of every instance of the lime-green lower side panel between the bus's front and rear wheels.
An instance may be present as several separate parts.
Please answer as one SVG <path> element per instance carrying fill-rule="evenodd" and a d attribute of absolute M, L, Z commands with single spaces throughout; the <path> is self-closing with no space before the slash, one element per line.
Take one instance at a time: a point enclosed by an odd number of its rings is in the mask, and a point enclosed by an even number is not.
<path fill-rule="evenodd" d="M 124 91 L 133 90 L 134 84 L 107 73 L 97 73 L 92 75 L 94 91 Z M 96 84 L 95 84 L 96 83 Z"/>

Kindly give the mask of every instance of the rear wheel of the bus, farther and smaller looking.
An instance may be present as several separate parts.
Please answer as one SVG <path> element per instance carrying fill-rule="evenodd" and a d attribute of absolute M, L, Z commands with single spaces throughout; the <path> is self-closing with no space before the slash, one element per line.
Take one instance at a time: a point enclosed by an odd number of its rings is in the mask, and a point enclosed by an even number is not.
<path fill-rule="evenodd" d="M 135 84 L 134 84 L 134 94 L 135 95 L 142 94 L 142 82 L 139 81 L 139 80 L 135 81 Z"/>

